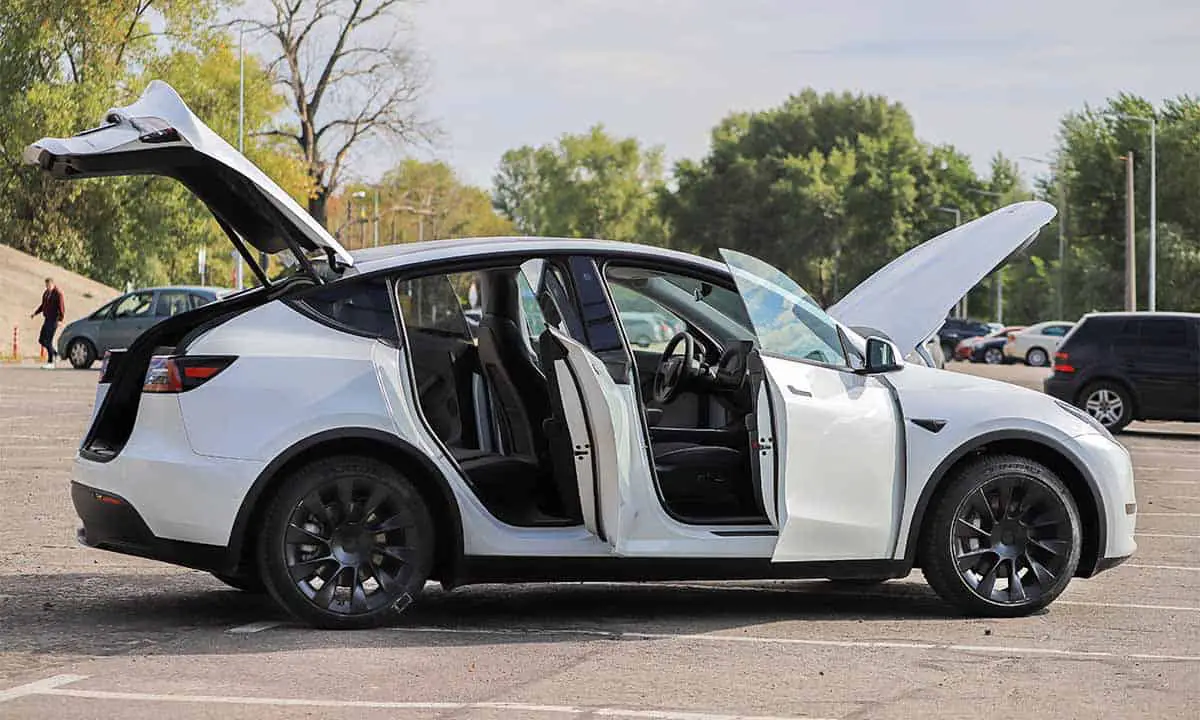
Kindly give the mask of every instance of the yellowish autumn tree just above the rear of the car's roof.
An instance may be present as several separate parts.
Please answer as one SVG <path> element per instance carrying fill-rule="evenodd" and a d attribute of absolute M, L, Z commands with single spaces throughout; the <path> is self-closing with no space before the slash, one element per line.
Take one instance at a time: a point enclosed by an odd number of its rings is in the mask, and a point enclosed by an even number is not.
<path fill-rule="evenodd" d="M 361 193 L 361 198 L 355 198 Z M 374 242 L 379 197 L 380 245 L 444 238 L 511 235 L 512 223 L 492 209 L 487 192 L 464 185 L 443 162 L 406 160 L 378 185 L 355 185 L 329 203 L 330 221 L 348 247 Z"/>

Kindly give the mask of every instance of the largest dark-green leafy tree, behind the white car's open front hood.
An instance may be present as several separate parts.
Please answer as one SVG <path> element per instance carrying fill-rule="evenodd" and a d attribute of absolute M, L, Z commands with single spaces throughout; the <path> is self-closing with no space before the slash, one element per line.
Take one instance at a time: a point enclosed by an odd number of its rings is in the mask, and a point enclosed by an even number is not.
<path fill-rule="evenodd" d="M 971 217 L 980 185 L 965 156 L 919 142 L 899 103 L 814 90 L 730 115 L 674 179 L 662 205 L 672 245 L 757 254 L 823 304 L 948 229 L 937 208 Z"/>

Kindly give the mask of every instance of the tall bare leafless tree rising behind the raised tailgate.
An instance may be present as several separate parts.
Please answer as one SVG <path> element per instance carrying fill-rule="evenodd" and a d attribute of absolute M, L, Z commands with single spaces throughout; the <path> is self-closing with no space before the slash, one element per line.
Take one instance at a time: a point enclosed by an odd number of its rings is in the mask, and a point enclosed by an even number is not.
<path fill-rule="evenodd" d="M 408 0 L 270 1 L 274 18 L 246 24 L 276 46 L 270 70 L 290 121 L 266 132 L 295 142 L 312 185 L 308 211 L 325 223 L 354 149 L 412 143 L 430 130 L 418 113 L 424 68 L 397 32 Z"/>

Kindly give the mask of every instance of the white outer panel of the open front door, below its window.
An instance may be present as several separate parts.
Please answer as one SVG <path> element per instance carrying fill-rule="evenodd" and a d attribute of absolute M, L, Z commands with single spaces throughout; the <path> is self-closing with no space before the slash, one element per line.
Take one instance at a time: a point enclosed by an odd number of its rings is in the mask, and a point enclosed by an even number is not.
<path fill-rule="evenodd" d="M 878 559 L 895 536 L 900 418 L 876 377 L 763 358 L 782 480 L 775 562 Z"/>

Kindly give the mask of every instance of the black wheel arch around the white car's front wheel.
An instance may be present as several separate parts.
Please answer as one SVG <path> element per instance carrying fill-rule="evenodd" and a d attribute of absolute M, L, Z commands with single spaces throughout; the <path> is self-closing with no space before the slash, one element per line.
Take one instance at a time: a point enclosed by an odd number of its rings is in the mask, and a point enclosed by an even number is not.
<path fill-rule="evenodd" d="M 920 533 L 925 527 L 926 511 L 946 490 L 953 472 L 980 454 L 1010 454 L 1028 457 L 1040 462 L 1058 475 L 1079 508 L 1079 518 L 1082 526 L 1084 545 L 1075 576 L 1090 577 L 1094 575 L 1098 563 L 1104 557 L 1104 547 L 1108 545 L 1104 497 L 1100 494 L 1096 478 L 1092 476 L 1079 456 L 1061 442 L 1037 432 L 1021 430 L 996 431 L 974 437 L 955 448 L 938 463 L 913 508 L 912 522 L 908 524 L 908 535 L 905 542 L 905 563 L 913 568 L 919 565 L 917 547 Z"/>

